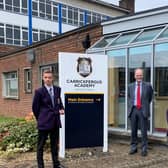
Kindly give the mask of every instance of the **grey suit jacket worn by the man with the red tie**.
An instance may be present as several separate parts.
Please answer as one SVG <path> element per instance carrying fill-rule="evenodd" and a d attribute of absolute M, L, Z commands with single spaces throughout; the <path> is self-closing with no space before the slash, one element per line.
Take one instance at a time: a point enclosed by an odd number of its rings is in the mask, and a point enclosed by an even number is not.
<path fill-rule="evenodd" d="M 135 85 L 136 83 L 131 83 L 128 86 L 128 117 L 131 116 L 134 98 L 135 98 Z M 145 118 L 150 116 L 150 103 L 153 97 L 153 89 L 150 83 L 142 81 L 142 93 L 141 93 L 141 104 L 142 112 Z"/>

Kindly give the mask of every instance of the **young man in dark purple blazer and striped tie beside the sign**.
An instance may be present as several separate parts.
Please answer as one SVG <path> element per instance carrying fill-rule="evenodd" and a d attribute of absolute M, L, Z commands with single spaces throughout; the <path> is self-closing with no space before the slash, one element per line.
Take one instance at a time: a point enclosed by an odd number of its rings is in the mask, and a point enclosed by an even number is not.
<path fill-rule="evenodd" d="M 38 142 L 37 163 L 38 168 L 44 168 L 43 148 L 50 137 L 53 168 L 62 168 L 58 160 L 59 128 L 61 127 L 60 114 L 64 114 L 61 101 L 61 88 L 53 85 L 51 71 L 43 73 L 44 86 L 35 91 L 32 109 L 37 120 Z"/>

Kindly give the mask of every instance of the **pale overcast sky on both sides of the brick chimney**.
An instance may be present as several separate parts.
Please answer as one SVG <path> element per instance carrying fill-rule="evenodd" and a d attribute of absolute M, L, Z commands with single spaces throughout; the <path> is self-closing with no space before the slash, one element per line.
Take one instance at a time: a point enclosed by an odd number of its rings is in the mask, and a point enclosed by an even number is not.
<path fill-rule="evenodd" d="M 119 0 L 103 0 L 118 5 Z M 135 0 L 135 11 L 143 11 L 161 6 L 168 6 L 168 0 Z"/>

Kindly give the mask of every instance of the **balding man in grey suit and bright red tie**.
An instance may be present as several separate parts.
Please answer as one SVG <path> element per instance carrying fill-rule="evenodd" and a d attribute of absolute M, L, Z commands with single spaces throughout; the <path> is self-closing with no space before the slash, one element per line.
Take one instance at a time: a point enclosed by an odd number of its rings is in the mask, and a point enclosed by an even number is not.
<path fill-rule="evenodd" d="M 150 83 L 142 81 L 142 69 L 136 69 L 134 77 L 136 81 L 128 86 L 128 117 L 131 121 L 131 150 L 129 154 L 137 153 L 137 131 L 139 124 L 142 136 L 141 155 L 147 156 L 147 127 L 153 89 Z"/>

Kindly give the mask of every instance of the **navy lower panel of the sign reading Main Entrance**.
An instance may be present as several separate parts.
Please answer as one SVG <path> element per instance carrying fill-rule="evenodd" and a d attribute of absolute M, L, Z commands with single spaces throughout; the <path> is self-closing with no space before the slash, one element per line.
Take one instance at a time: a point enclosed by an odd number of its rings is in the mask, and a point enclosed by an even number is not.
<path fill-rule="evenodd" d="M 103 146 L 104 94 L 65 94 L 65 147 Z"/>

